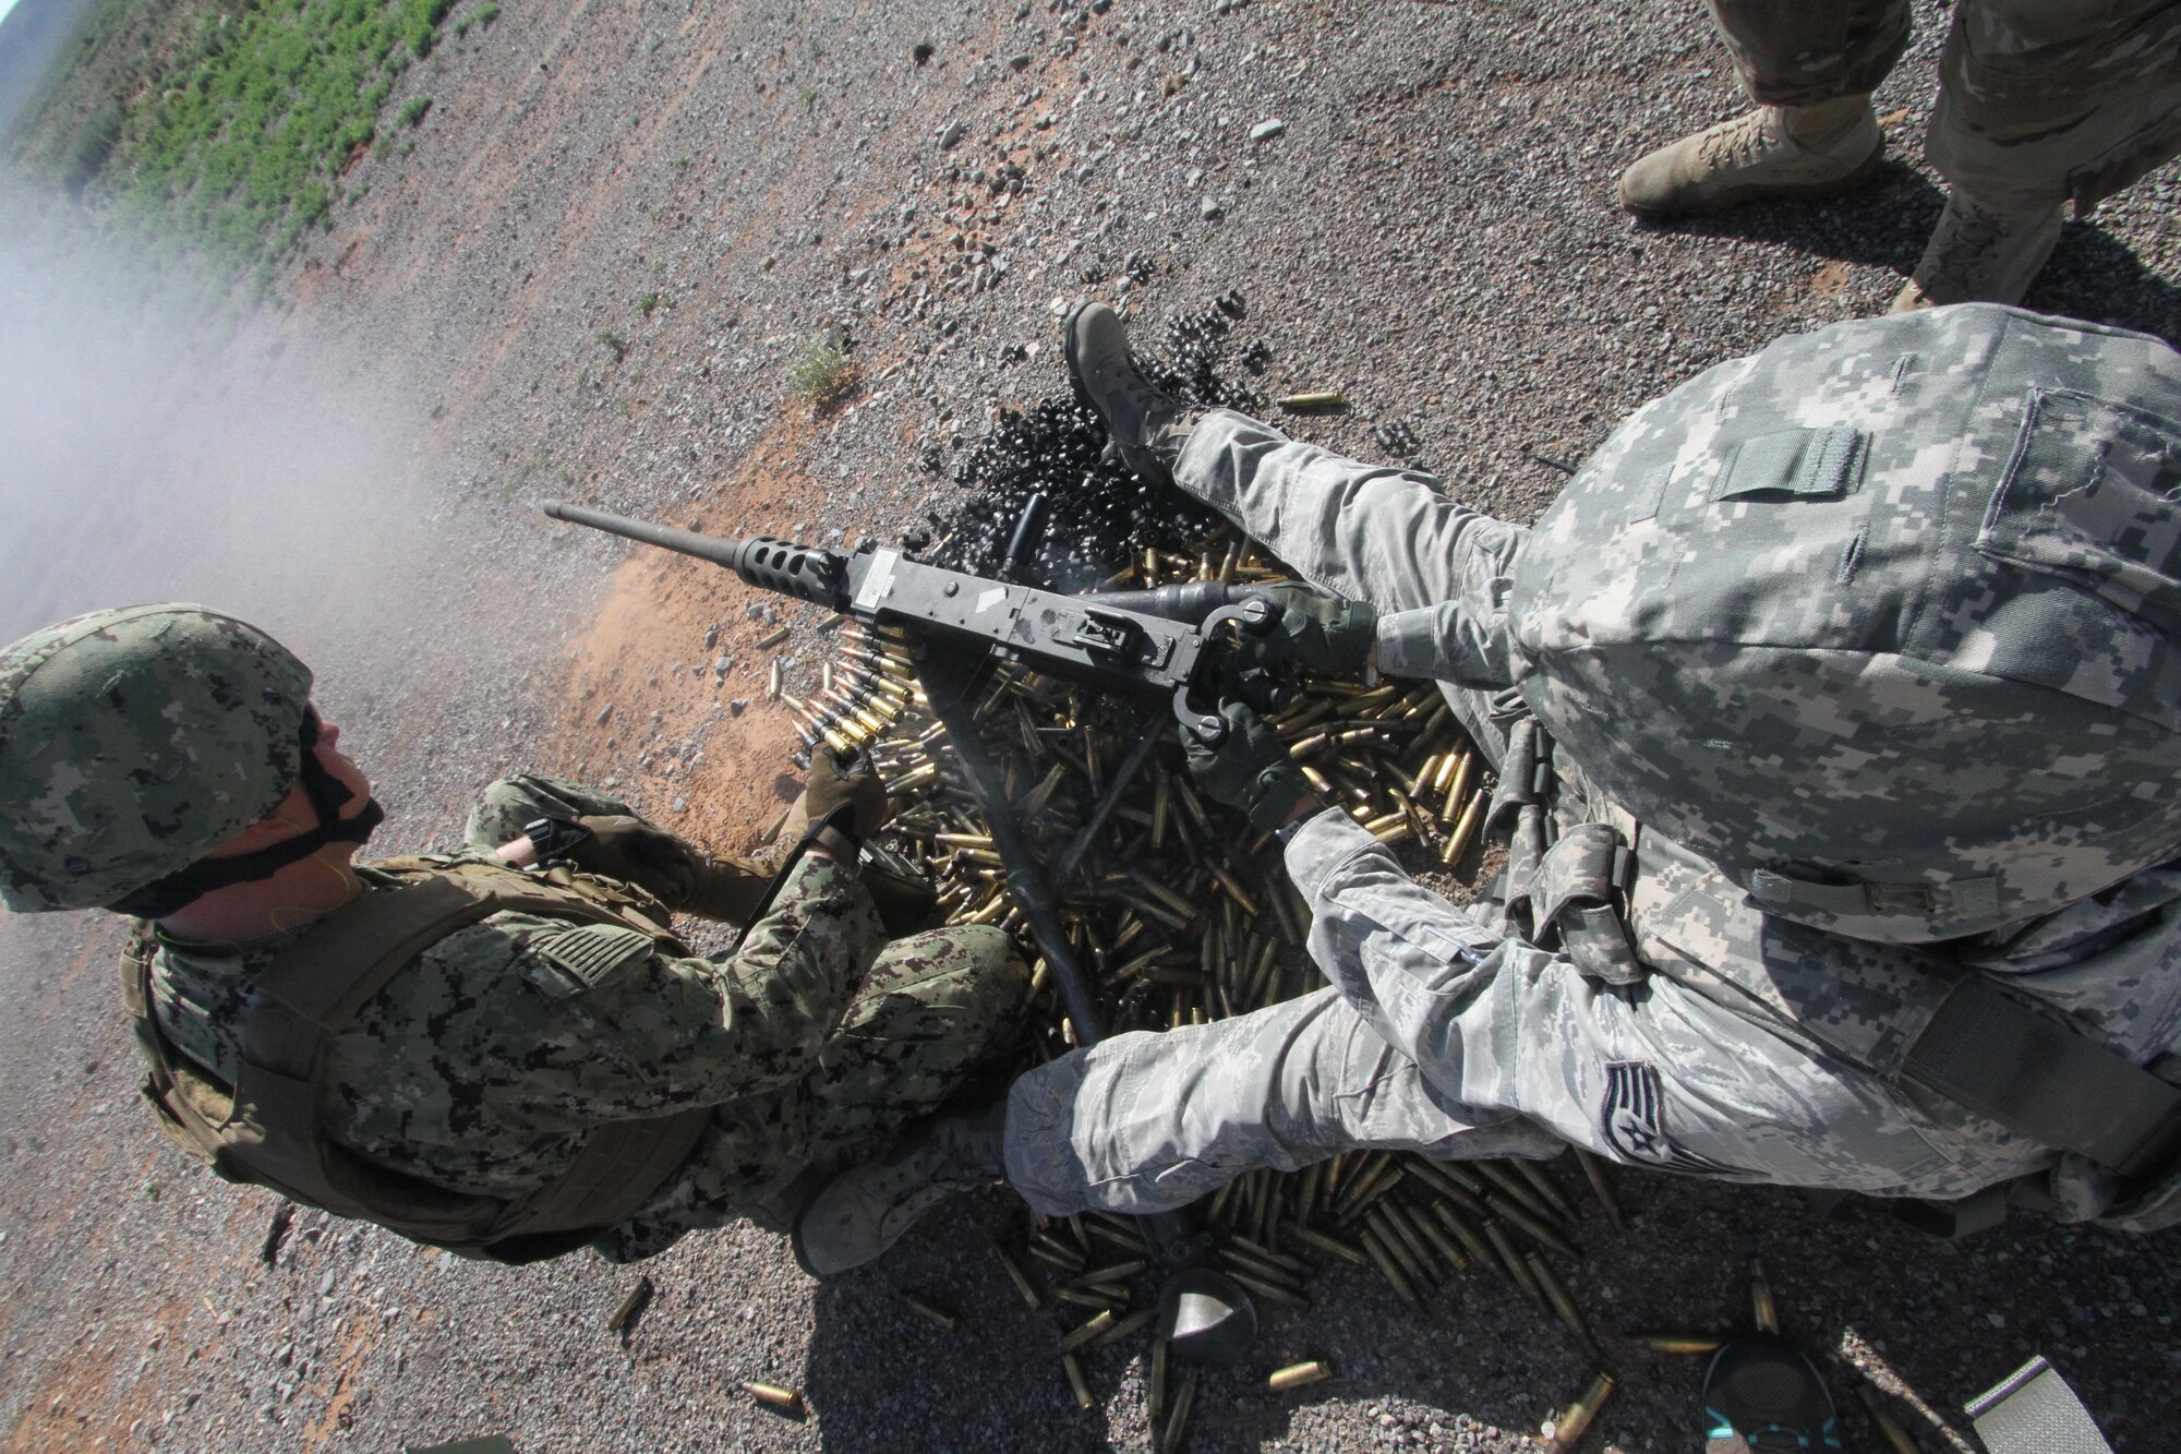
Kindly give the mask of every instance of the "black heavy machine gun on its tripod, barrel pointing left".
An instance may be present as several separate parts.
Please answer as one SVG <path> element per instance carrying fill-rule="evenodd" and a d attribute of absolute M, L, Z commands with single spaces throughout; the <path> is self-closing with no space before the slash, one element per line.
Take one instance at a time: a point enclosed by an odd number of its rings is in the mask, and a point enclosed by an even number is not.
<path fill-rule="evenodd" d="M 909 635 L 918 644 L 918 683 L 992 830 L 992 845 L 1008 867 L 1008 889 L 1060 985 L 1075 1039 L 1088 1046 L 1104 1037 L 1104 1015 L 1060 923 L 1053 884 L 1075 873 L 1121 795 L 1149 762 L 1162 736 L 1162 712 L 1147 716 L 1128 758 L 1047 871 L 977 736 L 977 683 L 990 666 L 1012 657 L 1099 690 L 1160 699 L 1182 731 L 1217 744 L 1226 734 L 1221 699 L 1241 694 L 1258 707 L 1274 703 L 1278 688 L 1263 666 L 1267 653 L 1245 646 L 1274 631 L 1280 622 L 1278 603 L 1219 581 L 1067 596 L 927 565 L 899 550 L 846 552 L 768 537 L 700 535 L 558 500 L 543 509 L 554 520 L 691 555 L 733 570 L 759 589 Z M 1023 533 L 1036 531 L 1034 515 L 1036 511 L 1025 513 L 1025 526 L 1008 550 L 1010 559 L 1021 559 Z M 1145 1220 L 1154 1244 L 1178 1264 L 1160 1299 L 1160 1332 L 1173 1340 L 1173 1351 L 1197 1362 L 1239 1360 L 1256 1336 L 1250 1295 L 1224 1273 L 1189 1264 L 1193 1238 L 1176 1216 Z"/>

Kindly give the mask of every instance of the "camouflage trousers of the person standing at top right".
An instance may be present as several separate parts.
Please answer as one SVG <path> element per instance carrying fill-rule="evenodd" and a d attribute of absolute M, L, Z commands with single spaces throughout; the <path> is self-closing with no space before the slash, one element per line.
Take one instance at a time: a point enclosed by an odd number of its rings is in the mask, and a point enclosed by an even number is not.
<path fill-rule="evenodd" d="M 1710 0 L 1762 105 L 1876 90 L 1908 0 Z M 1991 207 L 2102 199 L 2181 153 L 2181 4 L 1961 0 L 1939 59 L 1932 166 Z"/>

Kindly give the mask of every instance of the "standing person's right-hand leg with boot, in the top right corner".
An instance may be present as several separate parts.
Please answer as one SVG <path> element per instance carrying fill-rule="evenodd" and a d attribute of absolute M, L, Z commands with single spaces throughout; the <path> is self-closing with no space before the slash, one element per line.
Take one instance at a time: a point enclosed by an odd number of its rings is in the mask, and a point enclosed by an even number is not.
<path fill-rule="evenodd" d="M 2087 216 L 2177 153 L 2181 4 L 1965 0 L 1928 142 L 1945 212 L 1893 308 L 2020 303 L 2065 203 Z"/>

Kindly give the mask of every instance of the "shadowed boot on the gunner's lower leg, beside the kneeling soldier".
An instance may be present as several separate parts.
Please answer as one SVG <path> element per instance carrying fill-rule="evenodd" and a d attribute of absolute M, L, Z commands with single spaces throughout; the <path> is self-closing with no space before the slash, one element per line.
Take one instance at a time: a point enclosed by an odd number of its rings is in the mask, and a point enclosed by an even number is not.
<path fill-rule="evenodd" d="M 879 1258 L 955 1192 L 1005 1179 L 1005 1100 L 971 1116 L 940 1116 L 877 1161 L 833 1177 L 796 1218 L 796 1264 L 811 1277 L 838 1277 Z"/>

